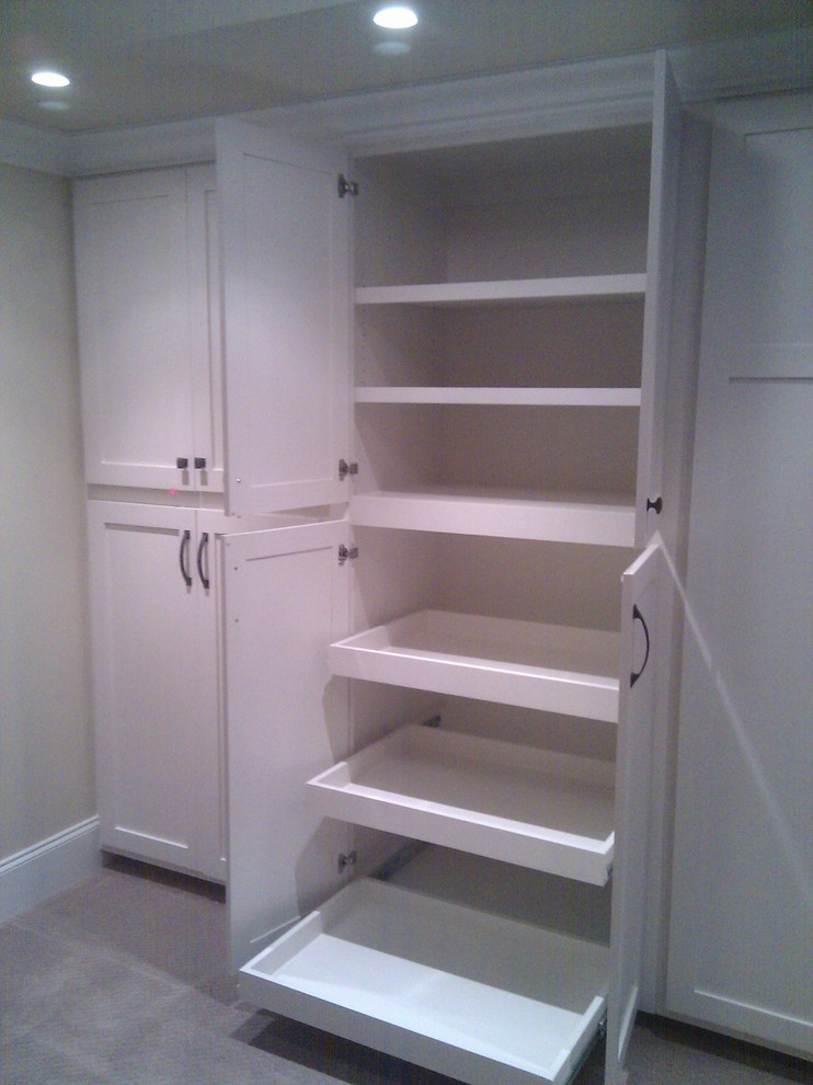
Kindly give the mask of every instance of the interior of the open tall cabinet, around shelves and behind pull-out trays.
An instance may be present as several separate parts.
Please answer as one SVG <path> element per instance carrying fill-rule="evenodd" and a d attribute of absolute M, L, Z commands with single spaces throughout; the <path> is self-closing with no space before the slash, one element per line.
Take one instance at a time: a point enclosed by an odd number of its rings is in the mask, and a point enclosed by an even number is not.
<path fill-rule="evenodd" d="M 650 126 L 634 125 L 355 161 L 355 629 L 430 610 L 618 631 L 631 535 L 607 534 L 585 503 L 634 502 L 643 289 L 615 277 L 645 273 L 650 155 Z M 427 518 L 431 499 L 445 519 Z M 581 503 L 589 526 L 549 532 L 551 500 Z M 483 502 L 536 518 L 495 526 Z M 431 721 L 597 764 L 615 756 L 614 723 L 575 709 L 359 678 L 352 705 L 354 751 Z M 406 843 L 356 833 L 377 861 Z M 455 859 L 438 866 L 436 853 Z M 437 845 L 421 855 L 423 891 L 428 871 L 460 869 L 458 901 L 467 864 L 522 869 Z M 554 876 L 512 877 L 545 898 Z M 580 889 L 593 887 L 568 893 Z"/>

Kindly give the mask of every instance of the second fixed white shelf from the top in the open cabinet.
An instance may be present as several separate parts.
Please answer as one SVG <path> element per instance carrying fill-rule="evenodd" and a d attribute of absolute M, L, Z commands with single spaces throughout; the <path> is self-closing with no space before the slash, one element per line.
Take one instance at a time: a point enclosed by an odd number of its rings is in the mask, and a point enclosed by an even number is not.
<path fill-rule="evenodd" d="M 640 388 L 359 387 L 357 403 L 476 407 L 640 407 Z"/>

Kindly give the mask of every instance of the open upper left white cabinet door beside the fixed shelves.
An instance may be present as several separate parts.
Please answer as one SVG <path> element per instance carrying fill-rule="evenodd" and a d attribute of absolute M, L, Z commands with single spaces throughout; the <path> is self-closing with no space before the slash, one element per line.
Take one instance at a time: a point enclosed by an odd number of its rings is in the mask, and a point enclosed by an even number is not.
<path fill-rule="evenodd" d="M 350 196 L 342 153 L 216 128 L 222 230 L 226 505 L 348 500 Z"/>

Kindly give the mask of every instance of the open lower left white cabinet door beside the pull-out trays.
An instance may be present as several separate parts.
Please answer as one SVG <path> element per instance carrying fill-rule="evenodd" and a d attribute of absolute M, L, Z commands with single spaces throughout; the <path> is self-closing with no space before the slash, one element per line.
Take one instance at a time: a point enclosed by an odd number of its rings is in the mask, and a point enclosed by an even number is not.
<path fill-rule="evenodd" d="M 222 541 L 236 970 L 342 884 L 348 827 L 311 809 L 305 785 L 347 755 L 347 683 L 328 671 L 348 631 L 347 536 L 331 521 Z"/>

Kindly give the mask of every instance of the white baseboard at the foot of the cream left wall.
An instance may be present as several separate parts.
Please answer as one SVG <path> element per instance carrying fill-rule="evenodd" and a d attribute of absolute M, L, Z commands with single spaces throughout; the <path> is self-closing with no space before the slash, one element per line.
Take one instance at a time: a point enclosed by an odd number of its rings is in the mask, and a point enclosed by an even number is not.
<path fill-rule="evenodd" d="M 71 889 L 101 865 L 95 816 L 0 860 L 0 923 Z"/>

